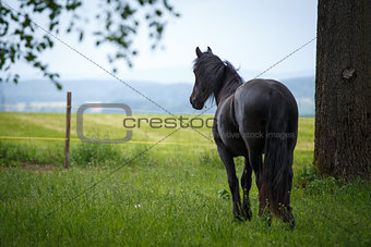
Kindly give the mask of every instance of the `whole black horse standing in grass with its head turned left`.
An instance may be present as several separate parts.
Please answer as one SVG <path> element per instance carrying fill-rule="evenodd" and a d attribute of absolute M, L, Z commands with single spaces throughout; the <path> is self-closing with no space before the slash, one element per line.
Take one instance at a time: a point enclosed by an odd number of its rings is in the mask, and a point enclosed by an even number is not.
<path fill-rule="evenodd" d="M 235 67 L 213 54 L 210 47 L 206 52 L 201 52 L 199 47 L 195 51 L 195 83 L 190 101 L 194 109 L 201 110 L 211 96 L 215 97 L 213 135 L 227 170 L 235 217 L 251 220 L 249 190 L 253 170 L 259 188 L 259 215 L 267 217 L 271 223 L 273 211 L 294 227 L 290 190 L 298 135 L 298 106 L 294 96 L 273 79 L 243 83 Z M 244 157 L 242 205 L 234 162 L 238 156 Z"/>

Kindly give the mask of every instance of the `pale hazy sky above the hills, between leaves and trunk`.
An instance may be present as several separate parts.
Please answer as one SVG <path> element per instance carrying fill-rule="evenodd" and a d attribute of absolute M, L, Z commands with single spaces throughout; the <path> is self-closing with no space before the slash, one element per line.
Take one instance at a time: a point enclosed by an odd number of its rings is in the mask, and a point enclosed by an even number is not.
<path fill-rule="evenodd" d="M 192 61 L 195 47 L 230 61 L 249 79 L 270 67 L 313 37 L 316 33 L 316 1 L 314 0 L 172 0 L 180 18 L 171 18 L 161 41 L 164 49 L 152 51 L 147 33 L 141 28 L 135 39 L 139 55 L 134 67 L 119 66 L 119 77 L 125 82 L 154 81 L 193 83 Z M 11 1 L 9 2 L 11 4 Z M 86 8 L 86 7 L 85 7 Z M 38 23 L 43 25 L 43 23 Z M 40 32 L 40 30 L 39 30 Z M 61 34 L 62 40 L 109 69 L 107 51 L 96 48 L 87 37 L 82 44 L 76 36 Z M 113 79 L 62 44 L 56 40 L 52 50 L 43 54 L 50 70 L 61 79 Z M 296 77 L 314 75 L 315 41 L 275 66 L 262 77 Z M 19 64 L 23 78 L 43 78 L 41 74 Z"/>

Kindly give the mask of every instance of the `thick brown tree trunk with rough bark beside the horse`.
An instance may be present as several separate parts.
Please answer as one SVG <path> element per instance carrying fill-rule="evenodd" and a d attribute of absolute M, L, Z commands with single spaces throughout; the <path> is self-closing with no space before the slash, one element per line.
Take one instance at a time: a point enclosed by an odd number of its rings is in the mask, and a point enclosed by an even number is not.
<path fill-rule="evenodd" d="M 314 165 L 371 174 L 371 1 L 319 0 Z"/>

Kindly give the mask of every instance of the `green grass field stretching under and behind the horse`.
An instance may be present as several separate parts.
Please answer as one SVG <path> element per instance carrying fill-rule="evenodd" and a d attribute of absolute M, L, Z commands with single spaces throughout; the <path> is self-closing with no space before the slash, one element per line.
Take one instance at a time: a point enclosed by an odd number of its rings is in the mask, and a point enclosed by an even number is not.
<path fill-rule="evenodd" d="M 86 115 L 84 134 L 122 138 L 122 118 Z M 206 127 L 198 128 L 201 135 L 143 124 L 128 144 L 73 140 L 68 170 L 61 168 L 62 140 L 3 138 L 63 138 L 64 121 L 57 113 L 0 113 L 1 246 L 371 245 L 371 184 L 315 172 L 313 119 L 299 123 L 292 231 L 276 220 L 267 226 L 258 217 L 255 185 L 252 221 L 234 221 L 225 168 Z M 76 138 L 75 115 L 71 129 Z M 243 160 L 236 163 L 240 176 Z"/>

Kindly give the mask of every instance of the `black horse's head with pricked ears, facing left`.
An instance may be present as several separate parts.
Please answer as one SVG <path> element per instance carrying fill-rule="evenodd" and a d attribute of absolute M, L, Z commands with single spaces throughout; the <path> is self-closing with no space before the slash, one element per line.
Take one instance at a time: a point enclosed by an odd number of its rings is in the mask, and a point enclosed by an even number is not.
<path fill-rule="evenodd" d="M 207 51 L 205 52 L 202 52 L 198 47 L 195 53 L 198 55 L 193 65 L 195 82 L 190 102 L 194 109 L 201 110 L 208 97 L 214 92 L 213 81 L 215 81 L 215 76 L 217 76 L 214 71 L 215 64 L 223 62 L 218 57 L 213 54 L 210 47 L 207 47 Z"/>

